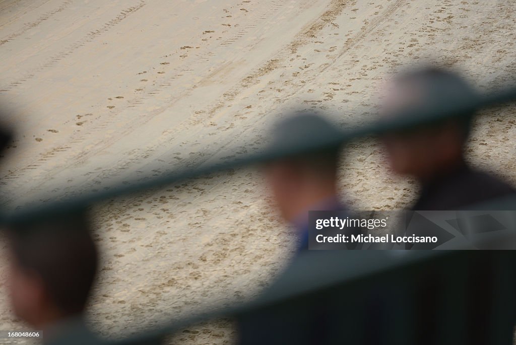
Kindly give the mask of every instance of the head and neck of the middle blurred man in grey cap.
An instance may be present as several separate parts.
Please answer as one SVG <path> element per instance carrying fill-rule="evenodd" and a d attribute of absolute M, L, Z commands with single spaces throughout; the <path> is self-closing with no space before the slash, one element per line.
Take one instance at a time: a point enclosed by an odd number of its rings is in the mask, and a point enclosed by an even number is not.
<path fill-rule="evenodd" d="M 265 168 L 280 215 L 296 227 L 299 251 L 309 247 L 309 211 L 348 209 L 339 200 L 337 189 L 341 135 L 329 122 L 310 113 L 293 116 L 273 131 L 271 151 L 294 152 L 300 146 L 306 150 L 273 159 Z M 312 149 L 311 145 L 322 148 Z"/>

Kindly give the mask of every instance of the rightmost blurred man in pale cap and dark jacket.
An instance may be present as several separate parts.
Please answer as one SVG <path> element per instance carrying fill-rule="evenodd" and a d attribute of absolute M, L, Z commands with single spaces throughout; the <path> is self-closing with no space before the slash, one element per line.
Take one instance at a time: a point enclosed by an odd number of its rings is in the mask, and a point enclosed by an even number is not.
<path fill-rule="evenodd" d="M 475 99 L 475 92 L 459 76 L 427 68 L 395 78 L 382 104 L 382 115 L 424 111 L 459 100 Z M 421 111 L 421 112 L 422 112 Z M 394 172 L 415 177 L 422 185 L 414 210 L 456 210 L 466 206 L 516 195 L 513 187 L 467 165 L 464 145 L 474 110 L 452 114 L 436 121 L 383 136 Z"/>

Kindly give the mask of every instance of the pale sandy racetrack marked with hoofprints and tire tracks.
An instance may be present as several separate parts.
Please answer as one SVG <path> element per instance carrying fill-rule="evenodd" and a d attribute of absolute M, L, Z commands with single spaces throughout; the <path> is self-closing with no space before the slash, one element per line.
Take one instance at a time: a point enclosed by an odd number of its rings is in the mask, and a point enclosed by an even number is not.
<path fill-rule="evenodd" d="M 479 87 L 514 73 L 515 3 L 427 3 L 0 2 L 0 100 L 19 127 L 0 168 L 5 205 L 259 150 L 291 108 L 359 125 L 374 117 L 375 90 L 407 63 L 437 60 Z M 511 116 L 490 111 L 470 151 L 516 182 Z M 354 207 L 411 200 L 414 185 L 382 161 L 374 142 L 349 146 L 342 186 Z M 268 202 L 260 175 L 238 170 L 96 207 L 104 254 L 92 324 L 117 336 L 252 297 L 295 242 Z M 2 329 L 21 327 L 0 296 Z M 171 342 L 232 337 L 218 322 Z"/>

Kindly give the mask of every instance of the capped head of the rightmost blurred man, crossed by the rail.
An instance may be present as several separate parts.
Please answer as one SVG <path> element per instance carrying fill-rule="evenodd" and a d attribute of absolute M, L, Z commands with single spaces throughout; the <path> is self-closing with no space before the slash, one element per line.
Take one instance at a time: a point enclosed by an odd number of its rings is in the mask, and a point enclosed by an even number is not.
<path fill-rule="evenodd" d="M 439 70 L 424 69 L 403 74 L 385 90 L 381 108 L 390 118 L 435 104 L 447 104 L 473 95 L 472 89 L 459 76 Z M 431 178 L 443 170 L 463 162 L 463 147 L 470 133 L 473 112 L 428 125 L 412 127 L 382 137 L 393 171 L 418 179 Z"/>

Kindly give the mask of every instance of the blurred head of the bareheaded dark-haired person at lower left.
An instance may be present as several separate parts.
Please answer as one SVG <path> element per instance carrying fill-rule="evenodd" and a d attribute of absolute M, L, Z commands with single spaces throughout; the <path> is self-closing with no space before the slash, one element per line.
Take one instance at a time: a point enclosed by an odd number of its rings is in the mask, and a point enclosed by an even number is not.
<path fill-rule="evenodd" d="M 12 224 L 9 237 L 14 313 L 35 328 L 82 314 L 98 260 L 86 215 Z"/>

